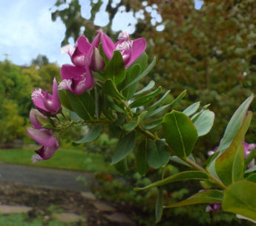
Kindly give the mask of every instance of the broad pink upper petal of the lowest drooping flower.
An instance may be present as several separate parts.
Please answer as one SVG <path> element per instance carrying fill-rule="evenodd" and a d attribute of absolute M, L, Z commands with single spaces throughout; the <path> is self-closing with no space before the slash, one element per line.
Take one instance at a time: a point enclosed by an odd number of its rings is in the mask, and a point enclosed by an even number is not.
<path fill-rule="evenodd" d="M 56 145 L 56 138 L 50 130 L 44 128 L 36 130 L 33 127 L 27 127 L 27 134 L 42 146 L 50 147 Z"/>

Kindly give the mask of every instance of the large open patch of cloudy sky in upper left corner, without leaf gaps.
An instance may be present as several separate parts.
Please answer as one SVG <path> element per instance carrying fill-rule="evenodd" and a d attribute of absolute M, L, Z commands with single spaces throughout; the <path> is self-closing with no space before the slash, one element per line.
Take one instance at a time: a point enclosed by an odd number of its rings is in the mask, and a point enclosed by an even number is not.
<path fill-rule="evenodd" d="M 65 26 L 62 21 L 51 21 L 49 9 L 55 0 L 22 0 L 16 4 L 1 1 L 0 61 L 7 53 L 14 64 L 30 64 L 31 59 L 42 54 L 50 62 L 61 64 L 65 59 L 60 53 Z"/>

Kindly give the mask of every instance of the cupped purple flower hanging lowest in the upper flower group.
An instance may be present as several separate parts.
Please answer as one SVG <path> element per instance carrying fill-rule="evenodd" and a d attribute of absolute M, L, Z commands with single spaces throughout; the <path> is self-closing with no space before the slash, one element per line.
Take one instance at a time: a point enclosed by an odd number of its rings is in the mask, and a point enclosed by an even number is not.
<path fill-rule="evenodd" d="M 59 83 L 59 89 L 70 90 L 70 92 L 76 95 L 85 93 L 85 91 L 91 89 L 95 83 L 88 65 L 79 67 L 63 64 L 61 76 L 63 80 Z"/>

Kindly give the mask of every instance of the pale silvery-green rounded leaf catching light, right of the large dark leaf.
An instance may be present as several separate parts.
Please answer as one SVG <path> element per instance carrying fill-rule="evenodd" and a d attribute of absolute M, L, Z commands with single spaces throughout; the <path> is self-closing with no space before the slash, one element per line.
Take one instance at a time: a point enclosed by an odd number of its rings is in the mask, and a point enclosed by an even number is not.
<path fill-rule="evenodd" d="M 211 110 L 203 110 L 200 116 L 194 122 L 194 126 L 197 128 L 198 136 L 204 136 L 211 130 L 214 124 L 214 113 Z"/>

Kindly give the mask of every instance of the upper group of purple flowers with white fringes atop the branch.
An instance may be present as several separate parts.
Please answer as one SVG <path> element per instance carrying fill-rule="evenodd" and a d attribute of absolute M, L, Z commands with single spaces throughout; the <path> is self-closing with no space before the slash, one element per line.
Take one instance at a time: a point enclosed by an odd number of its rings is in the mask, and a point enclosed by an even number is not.
<path fill-rule="evenodd" d="M 114 50 L 119 50 L 125 67 L 129 67 L 145 51 L 145 39 L 131 41 L 128 31 L 120 33 L 118 39 L 114 43 L 105 33 L 98 31 L 91 44 L 85 36 L 80 36 L 74 47 L 70 44 L 62 47 L 62 53 L 68 53 L 73 65 L 62 65 L 59 89 L 80 95 L 93 87 L 95 79 L 92 71 L 99 72 L 105 67 L 104 59 L 99 53 L 100 46 L 108 59 L 112 58 Z"/>

